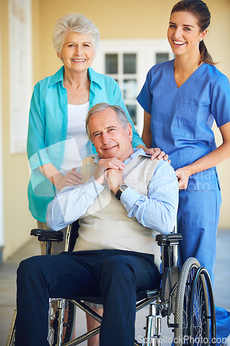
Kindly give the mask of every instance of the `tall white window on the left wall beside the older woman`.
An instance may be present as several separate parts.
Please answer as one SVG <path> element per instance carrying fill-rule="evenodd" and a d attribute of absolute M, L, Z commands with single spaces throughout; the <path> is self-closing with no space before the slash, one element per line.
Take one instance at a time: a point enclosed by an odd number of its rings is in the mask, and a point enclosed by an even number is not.
<path fill-rule="evenodd" d="M 10 152 L 26 151 L 32 89 L 30 0 L 9 1 L 10 22 Z"/>

